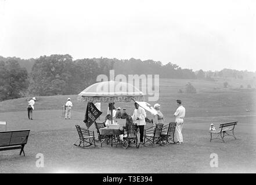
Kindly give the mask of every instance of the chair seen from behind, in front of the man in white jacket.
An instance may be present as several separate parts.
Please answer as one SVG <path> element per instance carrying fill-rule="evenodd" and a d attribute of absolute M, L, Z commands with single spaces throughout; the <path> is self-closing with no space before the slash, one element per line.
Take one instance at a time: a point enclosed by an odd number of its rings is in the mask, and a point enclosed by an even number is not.
<path fill-rule="evenodd" d="M 124 137 L 122 138 L 124 142 L 122 143 L 122 147 L 127 149 L 129 146 L 135 145 L 137 148 L 139 148 L 137 134 L 137 125 L 127 125 L 124 129 Z"/>

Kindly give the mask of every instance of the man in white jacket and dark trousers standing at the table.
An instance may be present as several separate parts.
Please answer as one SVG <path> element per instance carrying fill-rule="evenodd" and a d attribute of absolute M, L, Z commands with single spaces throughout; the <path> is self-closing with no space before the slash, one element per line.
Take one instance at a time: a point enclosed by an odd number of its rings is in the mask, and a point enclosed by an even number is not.
<path fill-rule="evenodd" d="M 135 109 L 134 114 L 132 115 L 132 120 L 134 120 L 134 123 L 139 126 L 139 139 L 140 143 L 143 142 L 143 136 L 144 136 L 144 125 L 146 125 L 145 117 L 146 112 L 143 108 L 139 106 L 138 103 L 135 103 Z"/>

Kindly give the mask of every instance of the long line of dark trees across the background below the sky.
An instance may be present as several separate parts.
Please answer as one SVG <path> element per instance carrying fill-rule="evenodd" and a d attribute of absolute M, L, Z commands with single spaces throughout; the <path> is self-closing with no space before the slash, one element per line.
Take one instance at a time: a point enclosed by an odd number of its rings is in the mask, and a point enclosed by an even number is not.
<path fill-rule="evenodd" d="M 122 75 L 160 75 L 170 79 L 205 79 L 215 73 L 193 72 L 168 62 L 131 58 L 84 58 L 73 60 L 68 54 L 53 54 L 28 60 L 0 56 L 0 101 L 33 95 L 78 94 L 109 71 Z M 223 73 L 223 72 L 222 72 Z M 220 73 L 221 74 L 221 73 Z M 240 73 L 239 73 L 240 74 Z M 218 75 L 218 74 L 217 74 Z M 221 74 L 223 76 L 223 74 Z"/>

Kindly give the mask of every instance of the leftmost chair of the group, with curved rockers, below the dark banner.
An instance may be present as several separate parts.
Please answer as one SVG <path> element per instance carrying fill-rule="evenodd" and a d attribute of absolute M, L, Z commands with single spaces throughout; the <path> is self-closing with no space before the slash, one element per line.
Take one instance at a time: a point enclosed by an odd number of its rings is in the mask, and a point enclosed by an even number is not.
<path fill-rule="evenodd" d="M 89 131 L 89 129 L 81 128 L 79 125 L 75 125 L 77 128 L 77 132 L 79 135 L 79 145 L 76 145 L 77 141 L 74 143 L 75 146 L 80 146 L 80 147 L 88 147 L 95 145 L 95 138 L 94 138 L 94 131 Z M 82 146 L 81 146 L 82 144 Z"/>

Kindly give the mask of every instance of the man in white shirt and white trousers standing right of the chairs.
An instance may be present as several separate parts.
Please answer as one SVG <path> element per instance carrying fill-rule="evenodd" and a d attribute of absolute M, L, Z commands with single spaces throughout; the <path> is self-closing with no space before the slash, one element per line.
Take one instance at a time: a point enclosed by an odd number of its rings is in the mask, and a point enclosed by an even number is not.
<path fill-rule="evenodd" d="M 184 123 L 184 117 L 185 117 L 185 108 L 181 105 L 181 100 L 177 100 L 177 105 L 178 108 L 176 110 L 176 112 L 174 113 L 175 116 L 175 122 L 176 122 L 176 136 L 177 136 L 177 140 L 178 140 L 178 144 L 183 143 L 183 136 L 182 136 L 182 127 L 183 127 L 183 123 Z"/>

